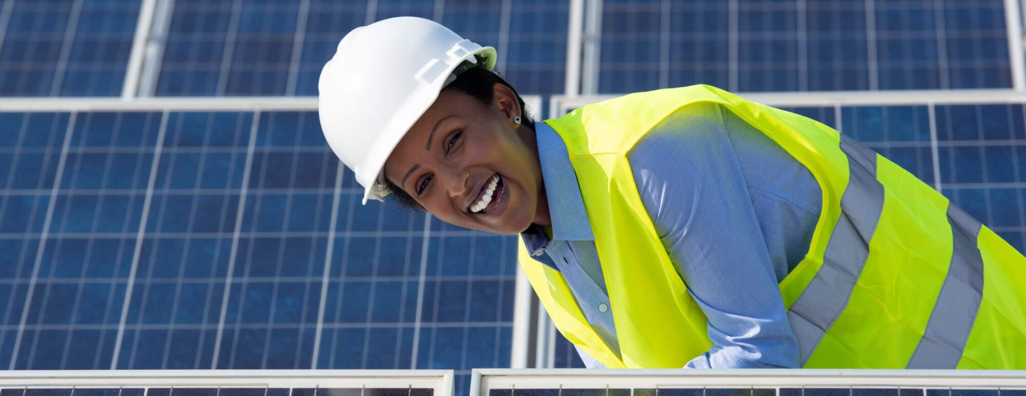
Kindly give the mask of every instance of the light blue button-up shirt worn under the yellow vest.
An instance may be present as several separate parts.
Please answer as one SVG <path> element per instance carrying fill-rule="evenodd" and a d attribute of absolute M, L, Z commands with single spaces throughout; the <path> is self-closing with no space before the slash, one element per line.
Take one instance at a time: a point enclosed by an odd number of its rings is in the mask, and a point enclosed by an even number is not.
<path fill-rule="evenodd" d="M 594 236 L 566 146 L 535 124 L 552 219 L 521 234 L 559 270 L 588 322 L 619 353 Z M 687 291 L 708 318 L 713 346 L 692 368 L 795 367 L 797 342 L 778 283 L 804 256 L 819 217 L 812 173 L 721 107 L 664 120 L 628 153 L 641 201 Z M 589 367 L 601 367 L 581 351 Z"/>

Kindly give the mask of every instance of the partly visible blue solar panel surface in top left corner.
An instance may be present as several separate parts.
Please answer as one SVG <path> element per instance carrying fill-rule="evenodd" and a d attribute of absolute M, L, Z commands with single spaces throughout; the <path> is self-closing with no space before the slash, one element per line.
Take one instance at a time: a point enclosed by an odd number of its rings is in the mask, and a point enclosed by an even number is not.
<path fill-rule="evenodd" d="M 5 0 L 0 7 L 0 96 L 121 94 L 139 1 Z"/>

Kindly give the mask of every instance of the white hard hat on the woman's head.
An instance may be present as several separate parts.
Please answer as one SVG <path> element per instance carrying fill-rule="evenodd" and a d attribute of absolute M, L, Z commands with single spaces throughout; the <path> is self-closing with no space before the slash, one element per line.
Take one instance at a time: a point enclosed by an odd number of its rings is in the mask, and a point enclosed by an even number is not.
<path fill-rule="evenodd" d="M 492 47 L 413 16 L 379 21 L 342 39 L 321 71 L 317 108 L 328 146 L 364 188 L 364 204 L 388 195 L 385 160 L 456 79 L 453 70 L 464 61 L 491 70 L 496 56 Z"/>

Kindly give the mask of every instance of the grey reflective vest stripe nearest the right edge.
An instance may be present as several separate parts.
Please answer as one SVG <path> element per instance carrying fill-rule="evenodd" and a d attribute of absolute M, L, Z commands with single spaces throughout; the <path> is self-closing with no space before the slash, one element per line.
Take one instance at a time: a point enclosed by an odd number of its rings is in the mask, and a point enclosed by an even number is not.
<path fill-rule="evenodd" d="M 951 224 L 951 266 L 930 314 L 908 368 L 955 368 L 983 299 L 983 258 L 976 237 L 982 225 L 954 204 L 948 205 Z"/>

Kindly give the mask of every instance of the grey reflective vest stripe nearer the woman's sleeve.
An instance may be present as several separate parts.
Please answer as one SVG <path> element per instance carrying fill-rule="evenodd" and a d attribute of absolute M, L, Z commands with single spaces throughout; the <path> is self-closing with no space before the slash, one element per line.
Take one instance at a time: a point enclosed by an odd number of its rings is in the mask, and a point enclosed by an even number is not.
<path fill-rule="evenodd" d="M 840 217 L 823 266 L 787 312 L 804 365 L 830 325 L 847 306 L 869 255 L 869 241 L 883 209 L 883 186 L 876 181 L 876 153 L 841 135 L 849 182 L 840 198 Z"/>

